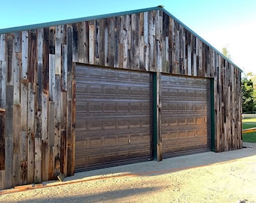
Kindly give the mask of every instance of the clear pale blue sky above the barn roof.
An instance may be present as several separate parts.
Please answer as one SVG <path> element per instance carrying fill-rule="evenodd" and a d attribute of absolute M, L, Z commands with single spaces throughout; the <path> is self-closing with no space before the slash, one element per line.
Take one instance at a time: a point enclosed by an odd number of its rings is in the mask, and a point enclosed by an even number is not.
<path fill-rule="evenodd" d="M 256 74 L 255 0 L 8 0 L 0 5 L 0 29 L 163 5 L 220 52 L 226 47 L 245 74 Z"/>

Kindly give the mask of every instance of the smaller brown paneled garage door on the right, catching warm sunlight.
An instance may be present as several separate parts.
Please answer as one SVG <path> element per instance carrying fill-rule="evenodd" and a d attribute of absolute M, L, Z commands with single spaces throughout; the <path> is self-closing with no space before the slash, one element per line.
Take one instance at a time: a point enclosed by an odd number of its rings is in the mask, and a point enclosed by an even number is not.
<path fill-rule="evenodd" d="M 210 79 L 161 76 L 163 157 L 210 150 Z"/>

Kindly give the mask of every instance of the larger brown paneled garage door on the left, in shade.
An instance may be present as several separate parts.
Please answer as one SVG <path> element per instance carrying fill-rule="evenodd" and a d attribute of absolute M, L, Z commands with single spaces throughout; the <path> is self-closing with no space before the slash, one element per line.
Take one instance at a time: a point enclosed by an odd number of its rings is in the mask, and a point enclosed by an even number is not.
<path fill-rule="evenodd" d="M 151 74 L 76 67 L 75 170 L 152 157 Z"/>

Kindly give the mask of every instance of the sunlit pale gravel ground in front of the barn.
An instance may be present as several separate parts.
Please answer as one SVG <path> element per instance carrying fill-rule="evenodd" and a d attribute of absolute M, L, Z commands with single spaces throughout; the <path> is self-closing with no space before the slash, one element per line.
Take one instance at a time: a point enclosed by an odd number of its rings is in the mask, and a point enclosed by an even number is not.
<path fill-rule="evenodd" d="M 0 202 L 256 202 L 256 144 L 244 146 L 2 190 Z"/>

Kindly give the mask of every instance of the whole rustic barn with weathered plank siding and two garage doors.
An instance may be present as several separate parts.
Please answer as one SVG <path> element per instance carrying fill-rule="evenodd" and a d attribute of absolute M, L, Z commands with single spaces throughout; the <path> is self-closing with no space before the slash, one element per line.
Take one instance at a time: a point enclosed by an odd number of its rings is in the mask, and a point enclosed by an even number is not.
<path fill-rule="evenodd" d="M 0 30 L 0 189 L 242 148 L 241 70 L 161 7 Z"/>

